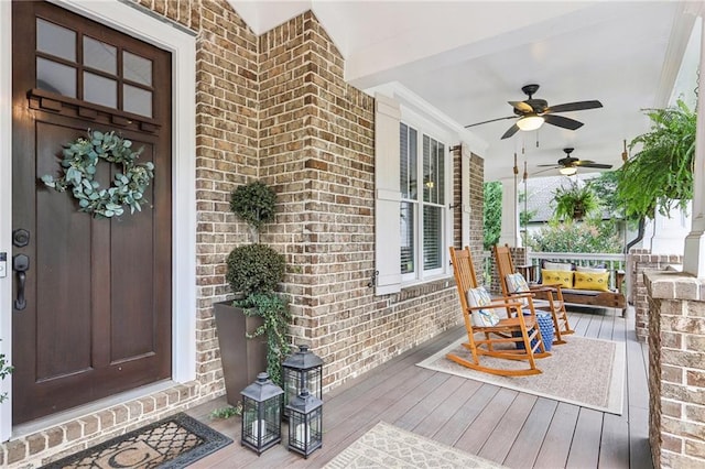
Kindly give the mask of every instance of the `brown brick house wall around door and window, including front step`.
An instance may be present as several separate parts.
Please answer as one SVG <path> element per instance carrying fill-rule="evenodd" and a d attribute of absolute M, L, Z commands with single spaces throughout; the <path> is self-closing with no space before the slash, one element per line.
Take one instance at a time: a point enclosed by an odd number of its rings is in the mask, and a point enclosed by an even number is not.
<path fill-rule="evenodd" d="M 325 361 L 330 389 L 459 324 L 452 279 L 375 296 L 373 99 L 343 79 L 312 13 L 257 37 L 225 1 L 140 0 L 197 34 L 196 380 L 0 445 L 0 466 L 36 467 L 225 393 L 213 303 L 225 260 L 250 242 L 229 211 L 252 178 L 278 193 L 262 242 L 284 253 L 292 342 Z M 470 160 L 470 239 L 481 259 L 482 160 Z M 457 234 L 456 234 L 457 236 Z M 478 266 L 479 268 L 479 266 Z"/>

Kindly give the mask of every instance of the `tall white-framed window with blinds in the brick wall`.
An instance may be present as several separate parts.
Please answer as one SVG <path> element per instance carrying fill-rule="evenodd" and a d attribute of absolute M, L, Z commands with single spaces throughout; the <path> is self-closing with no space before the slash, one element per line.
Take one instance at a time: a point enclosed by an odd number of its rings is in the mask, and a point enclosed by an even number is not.
<path fill-rule="evenodd" d="M 400 124 L 401 274 L 404 281 L 443 272 L 445 144 Z"/>

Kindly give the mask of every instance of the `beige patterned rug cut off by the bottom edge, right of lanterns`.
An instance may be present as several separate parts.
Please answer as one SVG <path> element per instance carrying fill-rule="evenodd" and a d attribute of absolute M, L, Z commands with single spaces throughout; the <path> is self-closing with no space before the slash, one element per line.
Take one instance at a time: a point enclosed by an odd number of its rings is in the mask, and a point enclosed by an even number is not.
<path fill-rule="evenodd" d="M 479 456 L 380 422 L 324 468 L 501 468 Z"/>

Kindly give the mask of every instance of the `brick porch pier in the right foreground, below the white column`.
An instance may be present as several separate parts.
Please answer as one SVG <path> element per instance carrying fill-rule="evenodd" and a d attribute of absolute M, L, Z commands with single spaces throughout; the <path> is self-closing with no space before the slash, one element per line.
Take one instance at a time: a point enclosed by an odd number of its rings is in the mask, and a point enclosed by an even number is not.
<path fill-rule="evenodd" d="M 705 467 L 705 280 L 644 273 L 654 468 Z"/>

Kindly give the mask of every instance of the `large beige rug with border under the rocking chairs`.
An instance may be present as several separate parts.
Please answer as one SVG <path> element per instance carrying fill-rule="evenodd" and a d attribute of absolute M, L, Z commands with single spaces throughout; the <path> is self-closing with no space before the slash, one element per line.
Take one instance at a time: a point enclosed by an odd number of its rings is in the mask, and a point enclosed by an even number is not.
<path fill-rule="evenodd" d="M 566 343 L 553 346 L 551 357 L 536 360 L 541 374 L 498 377 L 463 367 L 446 358 L 453 351 L 468 360 L 473 356 L 460 343 L 467 337 L 416 363 L 444 373 L 496 384 L 600 412 L 621 415 L 625 385 L 625 345 L 611 340 L 566 336 Z M 525 368 L 524 361 L 481 357 L 481 363 L 500 369 Z"/>

